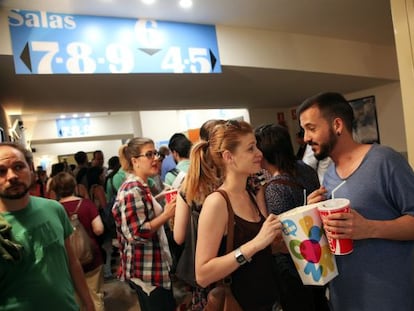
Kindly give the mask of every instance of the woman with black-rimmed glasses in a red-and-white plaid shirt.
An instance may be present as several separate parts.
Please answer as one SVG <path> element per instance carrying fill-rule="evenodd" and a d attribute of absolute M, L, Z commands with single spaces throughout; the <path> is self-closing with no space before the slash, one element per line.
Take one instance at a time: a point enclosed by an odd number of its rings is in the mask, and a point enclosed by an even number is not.
<path fill-rule="evenodd" d="M 112 209 L 121 257 L 118 277 L 137 292 L 141 310 L 172 311 L 171 254 L 164 224 L 174 216 L 175 200 L 162 208 L 148 187 L 159 161 L 151 139 L 131 139 L 120 157 L 127 177 Z"/>

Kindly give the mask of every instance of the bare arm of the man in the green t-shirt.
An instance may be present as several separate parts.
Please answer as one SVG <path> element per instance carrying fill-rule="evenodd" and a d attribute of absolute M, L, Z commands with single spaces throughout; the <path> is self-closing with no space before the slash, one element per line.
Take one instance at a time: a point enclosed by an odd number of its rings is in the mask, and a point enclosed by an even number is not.
<path fill-rule="evenodd" d="M 69 272 L 72 276 L 73 285 L 75 287 L 76 293 L 81 299 L 85 310 L 95 311 L 95 306 L 93 304 L 91 295 L 89 294 L 89 288 L 86 284 L 85 275 L 82 270 L 82 266 L 79 263 L 79 260 L 76 258 L 75 253 L 73 252 L 72 245 L 70 244 L 69 237 L 65 239 L 65 248 L 66 253 L 68 254 L 69 260 Z"/>

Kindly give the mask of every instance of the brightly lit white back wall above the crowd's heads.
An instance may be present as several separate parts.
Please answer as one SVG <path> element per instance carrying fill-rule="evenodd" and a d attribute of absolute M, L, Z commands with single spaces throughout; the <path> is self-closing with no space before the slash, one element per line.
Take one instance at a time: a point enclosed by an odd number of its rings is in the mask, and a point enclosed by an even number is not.
<path fill-rule="evenodd" d="M 128 138 L 142 135 L 155 142 L 168 141 L 174 133 L 199 128 L 209 119 L 239 117 L 250 122 L 246 109 L 118 112 L 104 117 L 91 117 L 90 136 L 59 138 L 56 120 L 37 119 L 25 121 L 28 129 L 25 134 L 31 140 L 31 147 L 36 150 L 33 154 L 35 166 L 46 162 L 50 173 L 50 166 L 58 162 L 59 155 L 102 150 L 106 164 L 110 157 L 118 155 L 119 147 Z"/>

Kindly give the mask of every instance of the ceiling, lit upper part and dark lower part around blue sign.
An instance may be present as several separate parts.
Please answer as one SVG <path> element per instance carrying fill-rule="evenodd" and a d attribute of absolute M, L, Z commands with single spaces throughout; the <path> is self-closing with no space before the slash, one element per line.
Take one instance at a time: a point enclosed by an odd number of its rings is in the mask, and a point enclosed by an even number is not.
<path fill-rule="evenodd" d="M 3 0 L 2 8 L 58 13 L 147 17 L 288 31 L 394 45 L 389 0 Z M 22 115 L 165 109 L 295 106 L 322 90 L 350 93 L 389 80 L 324 73 L 222 66 L 222 74 L 15 75 L 0 55 L 0 102 Z"/>

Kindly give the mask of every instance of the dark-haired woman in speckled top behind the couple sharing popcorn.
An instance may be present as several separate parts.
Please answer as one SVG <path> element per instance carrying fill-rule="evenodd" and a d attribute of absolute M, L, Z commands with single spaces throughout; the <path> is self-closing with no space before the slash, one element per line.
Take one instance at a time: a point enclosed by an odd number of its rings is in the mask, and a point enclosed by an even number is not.
<path fill-rule="evenodd" d="M 306 204 L 307 194 L 319 188 L 319 179 L 314 169 L 296 158 L 288 130 L 267 124 L 258 127 L 255 135 L 263 153 L 262 168 L 271 174 L 263 189 L 269 213 Z M 304 286 L 287 250 L 274 254 L 273 270 L 284 311 L 329 310 L 325 288 Z"/>

